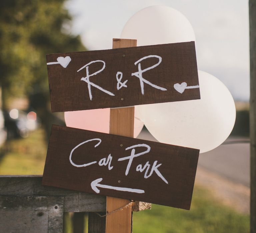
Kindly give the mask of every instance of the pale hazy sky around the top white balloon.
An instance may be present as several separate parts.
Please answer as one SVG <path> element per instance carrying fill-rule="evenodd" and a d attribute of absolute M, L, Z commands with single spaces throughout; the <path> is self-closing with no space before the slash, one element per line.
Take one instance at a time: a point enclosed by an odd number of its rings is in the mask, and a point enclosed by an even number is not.
<path fill-rule="evenodd" d="M 185 15 L 196 36 L 198 69 L 220 79 L 236 101 L 248 101 L 247 0 L 68 0 L 66 8 L 73 16 L 68 30 L 81 35 L 88 50 L 111 49 L 112 38 L 120 38 L 129 18 L 154 5 Z"/>

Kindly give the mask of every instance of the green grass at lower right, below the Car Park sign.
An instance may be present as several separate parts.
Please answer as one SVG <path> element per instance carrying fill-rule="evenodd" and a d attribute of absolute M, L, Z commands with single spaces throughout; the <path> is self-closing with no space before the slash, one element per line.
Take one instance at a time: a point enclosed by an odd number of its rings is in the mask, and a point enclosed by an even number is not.
<path fill-rule="evenodd" d="M 134 213 L 133 231 L 139 233 L 249 233 L 249 216 L 216 202 L 210 192 L 195 186 L 191 209 L 152 205 Z"/>

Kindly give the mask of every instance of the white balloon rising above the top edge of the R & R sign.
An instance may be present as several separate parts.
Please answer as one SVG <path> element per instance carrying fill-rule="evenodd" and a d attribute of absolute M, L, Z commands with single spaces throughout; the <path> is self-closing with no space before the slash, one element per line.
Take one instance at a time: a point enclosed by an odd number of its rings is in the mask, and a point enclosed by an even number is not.
<path fill-rule="evenodd" d="M 167 6 L 150 6 L 127 21 L 121 38 L 137 39 L 137 46 L 143 46 L 195 41 L 195 33 L 179 11 Z"/>

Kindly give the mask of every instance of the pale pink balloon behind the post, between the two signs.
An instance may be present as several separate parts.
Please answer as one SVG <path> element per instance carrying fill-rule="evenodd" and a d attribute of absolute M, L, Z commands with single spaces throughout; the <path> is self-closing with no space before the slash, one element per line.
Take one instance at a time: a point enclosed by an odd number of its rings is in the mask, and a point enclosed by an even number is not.
<path fill-rule="evenodd" d="M 110 109 L 93 109 L 65 112 L 65 122 L 68 127 L 87 129 L 109 133 Z M 134 118 L 134 137 L 137 137 L 144 123 Z"/>

